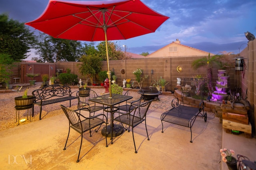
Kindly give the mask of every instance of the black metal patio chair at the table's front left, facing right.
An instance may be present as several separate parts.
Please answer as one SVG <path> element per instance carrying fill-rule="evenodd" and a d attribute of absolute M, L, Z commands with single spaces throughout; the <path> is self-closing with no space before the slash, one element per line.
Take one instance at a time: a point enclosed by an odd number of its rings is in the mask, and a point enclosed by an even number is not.
<path fill-rule="evenodd" d="M 77 131 L 78 133 L 80 133 L 80 135 L 81 135 L 81 144 L 80 144 L 80 149 L 79 149 L 79 153 L 78 153 L 78 158 L 76 160 L 76 162 L 79 162 L 79 155 L 80 155 L 82 141 L 83 141 L 83 133 L 86 131 L 90 131 L 90 137 L 92 137 L 91 129 L 99 126 L 97 129 L 95 129 L 95 131 L 98 132 L 98 129 L 100 129 L 100 126 L 102 124 L 107 125 L 107 123 L 104 121 L 104 118 L 106 118 L 106 115 L 99 114 L 96 116 L 84 117 L 83 115 L 81 115 L 80 113 L 77 112 L 78 110 L 68 109 L 67 107 L 65 107 L 63 105 L 60 105 L 60 107 L 64 111 L 64 113 L 69 121 L 68 137 L 69 137 L 69 133 L 70 133 L 70 127 L 72 129 L 74 129 L 75 131 Z M 105 129 L 107 129 L 107 128 L 105 128 Z M 106 131 L 106 133 L 107 133 L 107 131 Z M 63 150 L 66 150 L 68 137 L 67 137 L 66 144 L 65 144 L 65 147 Z M 108 147 L 107 137 L 106 137 L 106 147 Z"/>

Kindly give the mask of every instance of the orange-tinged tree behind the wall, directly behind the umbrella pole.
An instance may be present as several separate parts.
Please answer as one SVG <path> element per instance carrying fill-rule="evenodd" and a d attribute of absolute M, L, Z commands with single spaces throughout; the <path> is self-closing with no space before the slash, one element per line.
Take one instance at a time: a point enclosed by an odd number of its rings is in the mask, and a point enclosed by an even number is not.
<path fill-rule="evenodd" d="M 106 55 L 106 41 L 101 41 L 97 46 L 98 56 L 102 58 L 103 61 L 107 60 Z M 108 59 L 109 60 L 125 60 L 128 59 L 128 56 L 121 51 L 121 47 L 112 41 L 108 41 Z"/>

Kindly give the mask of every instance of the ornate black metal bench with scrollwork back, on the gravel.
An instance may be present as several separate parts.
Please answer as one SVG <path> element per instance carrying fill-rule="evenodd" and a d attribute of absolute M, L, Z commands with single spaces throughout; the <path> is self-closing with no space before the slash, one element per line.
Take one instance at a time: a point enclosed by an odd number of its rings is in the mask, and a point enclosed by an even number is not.
<path fill-rule="evenodd" d="M 69 104 L 71 107 L 71 100 L 77 99 L 76 92 L 71 92 L 71 88 L 69 86 L 60 86 L 60 85 L 49 85 L 45 86 L 41 89 L 34 90 L 32 95 L 35 96 L 34 104 L 40 106 L 40 116 L 41 120 L 42 114 L 42 106 L 54 104 L 58 102 L 64 102 L 69 100 Z M 72 96 L 75 94 L 75 96 Z M 34 105 L 32 109 L 32 117 L 34 116 Z"/>

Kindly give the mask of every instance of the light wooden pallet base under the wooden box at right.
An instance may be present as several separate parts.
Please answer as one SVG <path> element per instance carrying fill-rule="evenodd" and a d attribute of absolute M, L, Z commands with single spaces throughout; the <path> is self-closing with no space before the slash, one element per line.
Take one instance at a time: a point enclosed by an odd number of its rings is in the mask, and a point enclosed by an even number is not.
<path fill-rule="evenodd" d="M 230 133 L 232 130 L 242 131 L 244 132 L 244 136 L 246 138 L 252 138 L 252 125 L 250 123 L 245 125 L 242 123 L 222 119 L 222 127 L 226 129 L 226 133 Z"/>

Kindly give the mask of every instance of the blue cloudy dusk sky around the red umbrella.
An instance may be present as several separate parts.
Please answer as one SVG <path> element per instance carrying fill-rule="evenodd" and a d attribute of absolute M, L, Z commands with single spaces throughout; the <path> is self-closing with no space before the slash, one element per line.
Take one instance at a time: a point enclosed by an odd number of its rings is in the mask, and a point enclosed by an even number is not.
<path fill-rule="evenodd" d="M 141 1 L 170 18 L 155 33 L 114 41 L 126 45 L 131 53 L 152 53 L 179 39 L 182 45 L 202 51 L 237 54 L 239 48 L 242 51 L 247 47 L 243 45 L 248 43 L 246 31 L 256 36 L 256 0 Z M 6 13 L 9 18 L 25 23 L 38 18 L 47 4 L 48 0 L 0 0 L 0 14 Z"/>

